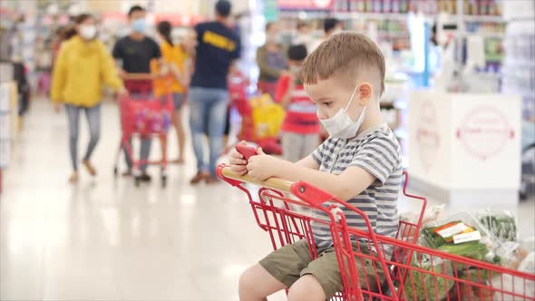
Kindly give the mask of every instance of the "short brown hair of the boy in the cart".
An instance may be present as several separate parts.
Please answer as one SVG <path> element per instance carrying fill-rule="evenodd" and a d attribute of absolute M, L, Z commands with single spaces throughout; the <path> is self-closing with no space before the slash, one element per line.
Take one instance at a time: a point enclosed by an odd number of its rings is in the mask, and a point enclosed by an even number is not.
<path fill-rule="evenodd" d="M 341 33 L 331 36 L 306 57 L 300 77 L 303 83 L 314 84 L 333 75 L 344 75 L 352 83 L 356 79 L 371 80 L 384 92 L 384 56 L 364 34 Z"/>

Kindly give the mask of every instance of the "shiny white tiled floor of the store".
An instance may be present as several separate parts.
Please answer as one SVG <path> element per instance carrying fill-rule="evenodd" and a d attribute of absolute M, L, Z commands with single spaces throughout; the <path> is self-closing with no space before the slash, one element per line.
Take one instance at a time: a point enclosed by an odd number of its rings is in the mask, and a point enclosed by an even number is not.
<path fill-rule="evenodd" d="M 114 104 L 103 106 L 102 122 L 99 175 L 82 172 L 73 186 L 64 113 L 34 102 L 1 195 L 0 299 L 237 300 L 240 272 L 270 250 L 243 194 L 223 183 L 191 187 L 191 153 L 170 167 L 167 189 L 114 179 Z M 522 236 L 533 235 L 533 209 L 532 200 L 520 206 Z"/>

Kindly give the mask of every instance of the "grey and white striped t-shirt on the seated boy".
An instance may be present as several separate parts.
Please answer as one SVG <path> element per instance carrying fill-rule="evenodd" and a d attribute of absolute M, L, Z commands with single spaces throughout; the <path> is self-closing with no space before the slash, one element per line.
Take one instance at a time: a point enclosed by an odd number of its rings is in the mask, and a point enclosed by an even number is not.
<path fill-rule="evenodd" d="M 374 176 L 376 180 L 370 187 L 347 202 L 365 212 L 375 233 L 395 237 L 399 226 L 397 197 L 403 170 L 399 143 L 386 124 L 364 131 L 350 140 L 329 137 L 312 153 L 312 158 L 319 164 L 319 170 L 324 172 L 338 175 L 355 166 Z M 341 209 L 349 227 L 367 231 L 364 218 L 350 209 Z M 316 211 L 316 218 L 329 220 L 322 211 Z M 312 230 L 318 248 L 332 245 L 328 227 L 315 223 Z M 384 251 L 390 253 L 386 248 Z"/>

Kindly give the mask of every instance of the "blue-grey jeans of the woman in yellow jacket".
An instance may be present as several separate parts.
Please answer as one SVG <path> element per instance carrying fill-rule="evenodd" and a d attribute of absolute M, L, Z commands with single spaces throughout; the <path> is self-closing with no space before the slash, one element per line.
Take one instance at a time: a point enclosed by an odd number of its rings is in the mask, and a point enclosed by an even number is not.
<path fill-rule="evenodd" d="M 69 150 L 71 150 L 71 160 L 73 170 L 78 170 L 78 131 L 80 125 L 80 111 L 85 111 L 87 123 L 89 123 L 89 145 L 83 160 L 89 160 L 92 151 L 101 138 L 101 104 L 91 108 L 80 107 L 72 104 L 65 104 L 67 119 L 69 121 Z"/>

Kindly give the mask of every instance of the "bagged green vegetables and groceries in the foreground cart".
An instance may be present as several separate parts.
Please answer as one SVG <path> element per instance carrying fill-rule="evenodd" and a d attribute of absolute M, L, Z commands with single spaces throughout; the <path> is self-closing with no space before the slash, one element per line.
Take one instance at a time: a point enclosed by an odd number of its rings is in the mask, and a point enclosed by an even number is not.
<path fill-rule="evenodd" d="M 533 245 L 522 243 L 517 238 L 516 219 L 511 212 L 481 210 L 455 214 L 442 221 L 434 221 L 433 226 L 424 227 L 420 243 L 429 248 L 449 254 L 467 257 L 501 266 L 505 269 L 478 267 L 479 264 L 457 263 L 446 258 L 434 257 L 413 259 L 413 267 L 433 268 L 434 272 L 413 277 L 422 277 L 414 286 L 405 286 L 408 296 L 417 300 L 428 300 L 425 287 L 429 281 L 440 281 L 436 300 L 458 295 L 461 300 L 532 300 L 535 298 L 535 270 L 533 270 Z M 422 261 L 423 259 L 423 261 Z M 426 264 L 427 262 L 427 264 Z M 515 271 L 531 275 L 530 279 L 515 275 Z M 437 274 L 440 277 L 437 277 Z M 449 277 L 460 279 L 448 281 Z M 459 285 L 453 286 L 453 284 Z M 458 289 L 457 292 L 450 290 Z M 449 292 L 450 291 L 450 292 Z M 449 292 L 449 293 L 448 293 Z M 448 294 L 444 294 L 448 293 Z M 432 295 L 433 296 L 433 295 Z"/>

